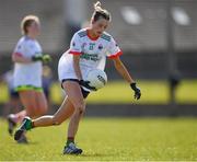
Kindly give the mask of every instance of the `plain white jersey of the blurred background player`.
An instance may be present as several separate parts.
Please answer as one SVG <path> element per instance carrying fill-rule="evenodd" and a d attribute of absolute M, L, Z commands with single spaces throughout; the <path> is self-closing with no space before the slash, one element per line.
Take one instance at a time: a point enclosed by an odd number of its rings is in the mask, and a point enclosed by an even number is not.
<path fill-rule="evenodd" d="M 36 39 L 23 36 L 16 44 L 14 55 L 32 58 L 34 55 L 42 55 L 42 47 Z M 42 88 L 42 62 L 14 63 L 14 88 L 31 85 Z"/>

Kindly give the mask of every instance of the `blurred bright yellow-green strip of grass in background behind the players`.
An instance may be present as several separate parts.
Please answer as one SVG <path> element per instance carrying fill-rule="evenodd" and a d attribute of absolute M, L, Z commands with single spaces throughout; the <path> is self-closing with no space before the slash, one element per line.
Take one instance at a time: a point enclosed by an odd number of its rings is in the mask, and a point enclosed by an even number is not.
<path fill-rule="evenodd" d="M 138 81 L 142 91 L 140 101 L 135 101 L 129 85 L 124 81 L 109 81 L 105 88 L 88 97 L 88 103 L 97 104 L 167 104 L 170 101 L 166 81 Z M 8 101 L 5 84 L 0 84 L 0 103 Z M 51 85 L 51 101 L 55 104 L 62 102 L 62 90 L 59 82 Z M 183 80 L 177 86 L 176 102 L 183 104 L 197 104 L 197 80 Z"/>

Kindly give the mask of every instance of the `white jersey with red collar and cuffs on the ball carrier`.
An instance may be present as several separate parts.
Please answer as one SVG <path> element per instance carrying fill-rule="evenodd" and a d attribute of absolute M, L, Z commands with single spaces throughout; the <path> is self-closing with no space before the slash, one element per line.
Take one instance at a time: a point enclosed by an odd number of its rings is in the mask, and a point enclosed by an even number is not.
<path fill-rule="evenodd" d="M 116 58 L 121 54 L 114 38 L 106 32 L 93 39 L 88 28 L 80 30 L 73 35 L 69 50 L 59 60 L 59 80 L 78 79 L 73 69 L 73 55 L 80 55 L 80 69 L 85 80 L 89 70 L 93 68 L 104 70 L 106 57 Z"/>

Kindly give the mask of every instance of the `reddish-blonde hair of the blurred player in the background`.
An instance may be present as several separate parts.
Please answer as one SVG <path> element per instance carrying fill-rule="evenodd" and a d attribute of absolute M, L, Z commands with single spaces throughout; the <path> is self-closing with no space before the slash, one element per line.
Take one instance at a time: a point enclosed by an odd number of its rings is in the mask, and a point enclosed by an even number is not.
<path fill-rule="evenodd" d="M 39 24 L 39 18 L 36 15 L 26 15 L 25 18 L 23 18 L 23 20 L 21 22 L 21 32 L 23 35 L 26 35 L 28 33 L 27 27 L 33 22 L 36 22 L 37 24 Z"/>

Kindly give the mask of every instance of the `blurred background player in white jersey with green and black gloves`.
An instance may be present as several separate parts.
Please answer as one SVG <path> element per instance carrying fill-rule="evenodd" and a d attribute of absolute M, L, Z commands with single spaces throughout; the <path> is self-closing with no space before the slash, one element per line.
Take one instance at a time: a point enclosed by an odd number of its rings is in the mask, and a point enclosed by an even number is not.
<path fill-rule="evenodd" d="M 47 101 L 42 89 L 42 62 L 49 61 L 50 57 L 42 55 L 42 47 L 36 40 L 40 31 L 39 19 L 35 15 L 25 16 L 21 22 L 21 30 L 23 36 L 12 54 L 14 61 L 13 82 L 25 109 L 8 116 L 10 134 L 25 116 L 35 118 L 44 115 L 47 111 Z M 19 139 L 19 142 L 26 142 L 24 135 Z"/>

